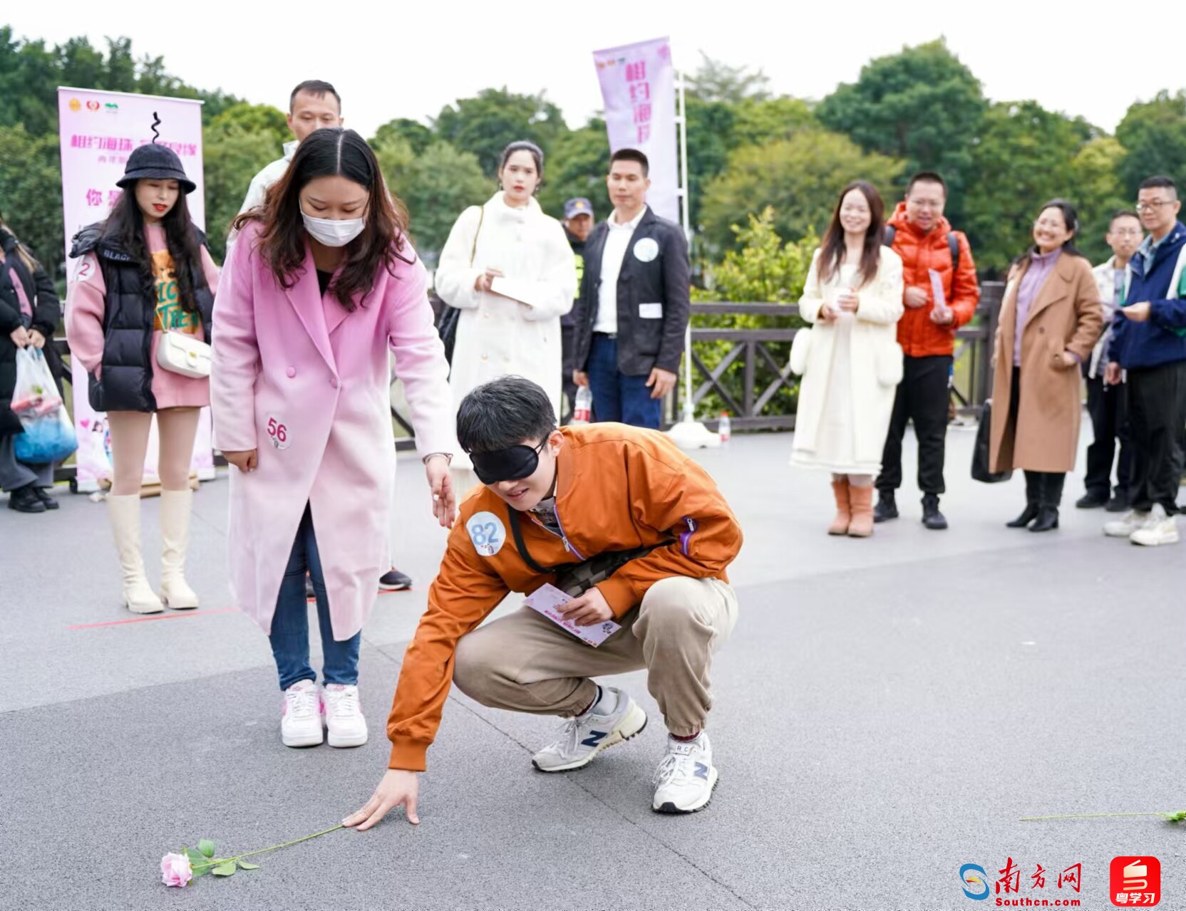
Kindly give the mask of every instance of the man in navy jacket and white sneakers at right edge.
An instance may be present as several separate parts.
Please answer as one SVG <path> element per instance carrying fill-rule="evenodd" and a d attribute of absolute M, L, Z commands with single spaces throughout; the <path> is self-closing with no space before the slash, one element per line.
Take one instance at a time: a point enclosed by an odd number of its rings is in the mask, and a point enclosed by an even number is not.
<path fill-rule="evenodd" d="M 1149 236 L 1129 263 L 1127 306 L 1112 320 L 1105 380 L 1124 371 L 1133 438 L 1131 511 L 1104 533 L 1156 547 L 1178 541 L 1178 486 L 1186 425 L 1186 226 L 1178 186 L 1141 184 L 1136 211 Z"/>

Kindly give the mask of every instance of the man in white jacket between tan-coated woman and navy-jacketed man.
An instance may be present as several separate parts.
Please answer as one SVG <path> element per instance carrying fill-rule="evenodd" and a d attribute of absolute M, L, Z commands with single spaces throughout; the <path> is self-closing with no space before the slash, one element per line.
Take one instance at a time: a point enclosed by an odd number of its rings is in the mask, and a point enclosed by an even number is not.
<path fill-rule="evenodd" d="M 1080 509 L 1105 507 L 1110 513 L 1128 509 L 1128 485 L 1133 473 L 1133 445 L 1128 438 L 1124 416 L 1124 387 L 1104 383 L 1108 368 L 1108 346 L 1111 342 L 1110 323 L 1116 310 L 1124 306 L 1128 290 L 1128 263 L 1141 245 L 1144 231 L 1141 217 L 1123 210 L 1112 216 L 1104 239 L 1112 249 L 1112 256 L 1101 263 L 1092 274 L 1099 290 L 1099 303 L 1104 310 L 1103 336 L 1096 342 L 1090 360 L 1083 363 L 1083 376 L 1088 380 L 1088 413 L 1091 416 L 1093 441 L 1088 447 L 1086 493 L 1076 501 Z M 1116 460 L 1116 441 L 1120 441 L 1120 458 Z M 1116 487 L 1111 483 L 1112 462 L 1116 462 Z"/>

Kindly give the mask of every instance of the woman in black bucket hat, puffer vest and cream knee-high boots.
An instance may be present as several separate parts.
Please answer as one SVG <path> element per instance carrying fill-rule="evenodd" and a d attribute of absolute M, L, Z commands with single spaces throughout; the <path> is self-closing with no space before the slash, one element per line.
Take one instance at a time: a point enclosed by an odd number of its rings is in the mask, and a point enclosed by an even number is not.
<path fill-rule="evenodd" d="M 198 607 L 185 580 L 190 461 L 199 410 L 210 404 L 209 355 L 200 355 L 210 342 L 218 269 L 205 235 L 190 220 L 185 198 L 195 184 L 172 149 L 140 146 L 116 186 L 123 193 L 107 220 L 74 238 L 66 339 L 90 374 L 90 405 L 107 412 L 110 428 L 107 507 L 123 603 L 133 612 L 155 614 Z M 192 352 L 193 363 L 170 357 L 177 352 Z M 153 416 L 160 436 L 159 597 L 140 552 L 140 486 Z"/>

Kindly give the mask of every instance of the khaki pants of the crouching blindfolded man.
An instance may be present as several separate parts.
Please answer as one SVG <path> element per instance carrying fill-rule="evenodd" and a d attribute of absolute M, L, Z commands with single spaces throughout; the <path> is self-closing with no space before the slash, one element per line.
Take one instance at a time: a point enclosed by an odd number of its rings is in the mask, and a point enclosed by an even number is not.
<path fill-rule="evenodd" d="M 737 616 L 727 583 L 675 576 L 655 583 L 619 620 L 621 629 L 594 648 L 524 607 L 458 641 L 453 682 L 491 708 L 568 718 L 597 695 L 591 676 L 646 668 L 668 730 L 688 737 L 704 727 L 713 652 Z"/>

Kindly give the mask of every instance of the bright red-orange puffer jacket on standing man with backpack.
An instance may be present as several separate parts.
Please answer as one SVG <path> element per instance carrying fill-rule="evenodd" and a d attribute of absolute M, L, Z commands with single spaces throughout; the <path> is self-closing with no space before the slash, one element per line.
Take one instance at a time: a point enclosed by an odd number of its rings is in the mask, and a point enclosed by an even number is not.
<path fill-rule="evenodd" d="M 930 297 L 929 270 L 935 269 L 943 278 L 943 295 L 954 316 L 946 326 L 937 326 L 931 322 L 933 300 L 925 307 L 907 307 L 898 321 L 898 344 L 907 358 L 951 354 L 956 346 L 956 329 L 971 320 L 980 303 L 976 263 L 973 262 L 968 238 L 962 231 L 955 232 L 959 243 L 959 268 L 952 269 L 951 248 L 948 245 L 951 223 L 946 218 L 939 218 L 939 223 L 924 235 L 906 220 L 906 204 L 899 203 L 886 224 L 895 231 L 893 251 L 901 257 L 903 284 L 922 288 Z"/>

